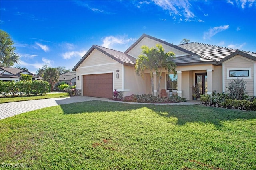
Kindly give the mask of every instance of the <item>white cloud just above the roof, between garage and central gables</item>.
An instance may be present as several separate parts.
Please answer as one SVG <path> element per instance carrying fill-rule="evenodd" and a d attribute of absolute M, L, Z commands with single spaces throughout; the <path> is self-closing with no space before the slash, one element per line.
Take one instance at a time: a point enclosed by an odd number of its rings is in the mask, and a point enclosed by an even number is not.
<path fill-rule="evenodd" d="M 108 36 L 108 37 L 105 37 L 104 39 L 102 39 L 102 41 L 103 41 L 102 47 L 112 48 L 113 45 L 116 45 L 116 44 L 126 44 L 126 43 L 129 43 L 131 41 L 134 41 L 134 39 L 132 39 L 132 38 L 127 39 L 126 37 L 127 36 L 118 36 L 118 37 Z"/>

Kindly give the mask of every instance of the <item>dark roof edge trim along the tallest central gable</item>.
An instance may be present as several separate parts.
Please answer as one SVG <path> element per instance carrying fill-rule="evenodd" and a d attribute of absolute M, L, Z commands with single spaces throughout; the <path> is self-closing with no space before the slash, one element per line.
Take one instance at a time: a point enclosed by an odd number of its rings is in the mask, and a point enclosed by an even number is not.
<path fill-rule="evenodd" d="M 184 49 L 184 48 L 180 48 L 180 47 L 178 47 L 177 45 L 173 45 L 173 44 L 171 44 L 171 43 L 168 43 L 168 42 L 166 42 L 166 41 L 163 41 L 163 40 L 161 40 L 161 39 L 152 37 L 152 36 L 147 35 L 147 34 L 143 34 L 137 41 L 135 41 L 135 43 L 133 43 L 126 51 L 124 51 L 124 53 L 128 53 L 129 51 L 131 51 L 144 37 L 153 39 L 153 40 L 155 40 L 155 41 L 159 41 L 160 43 L 166 44 L 166 45 L 168 45 L 168 46 L 170 46 L 170 47 L 173 47 L 173 48 L 175 48 L 175 49 L 178 49 L 178 50 L 180 50 L 180 51 L 183 51 L 184 53 L 188 53 L 188 54 L 190 54 L 190 55 L 196 55 L 196 56 L 198 55 L 198 54 L 196 54 L 196 53 L 193 53 L 192 51 L 188 51 L 188 50 L 186 50 L 186 49 Z"/>

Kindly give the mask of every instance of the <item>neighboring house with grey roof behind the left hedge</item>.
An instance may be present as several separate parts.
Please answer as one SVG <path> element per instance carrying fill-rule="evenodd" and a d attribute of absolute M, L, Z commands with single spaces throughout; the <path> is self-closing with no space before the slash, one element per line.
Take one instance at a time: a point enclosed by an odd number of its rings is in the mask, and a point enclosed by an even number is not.
<path fill-rule="evenodd" d="M 20 81 L 20 74 L 28 74 L 32 76 L 32 80 L 43 80 L 42 77 L 20 68 L 0 67 L 0 80 L 2 81 Z"/>

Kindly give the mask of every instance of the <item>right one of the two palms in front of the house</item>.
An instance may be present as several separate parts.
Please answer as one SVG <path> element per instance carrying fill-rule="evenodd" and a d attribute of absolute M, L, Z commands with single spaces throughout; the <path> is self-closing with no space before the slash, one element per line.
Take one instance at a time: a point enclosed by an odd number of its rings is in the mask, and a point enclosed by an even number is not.
<path fill-rule="evenodd" d="M 157 87 L 157 91 L 156 91 L 156 95 L 159 92 L 159 88 L 160 88 L 160 82 L 161 82 L 161 78 L 162 78 L 162 70 L 165 69 L 168 72 L 173 72 L 174 76 L 176 76 L 177 72 L 176 72 L 176 64 L 171 61 L 171 57 L 174 59 L 175 58 L 175 54 L 172 51 L 169 51 L 168 53 L 164 53 L 164 47 L 162 46 L 162 44 L 156 44 L 156 47 L 158 48 L 158 57 L 157 57 L 157 66 L 158 66 L 158 71 L 156 72 L 156 75 L 159 77 L 159 81 L 158 81 L 158 87 Z"/>

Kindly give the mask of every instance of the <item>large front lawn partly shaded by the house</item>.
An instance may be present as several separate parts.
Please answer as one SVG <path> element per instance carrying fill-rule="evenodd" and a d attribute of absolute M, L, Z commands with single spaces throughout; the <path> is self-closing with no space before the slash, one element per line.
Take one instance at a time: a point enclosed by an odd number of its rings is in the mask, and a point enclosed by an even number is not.
<path fill-rule="evenodd" d="M 256 111 L 89 101 L 0 120 L 0 164 L 256 169 Z"/>

